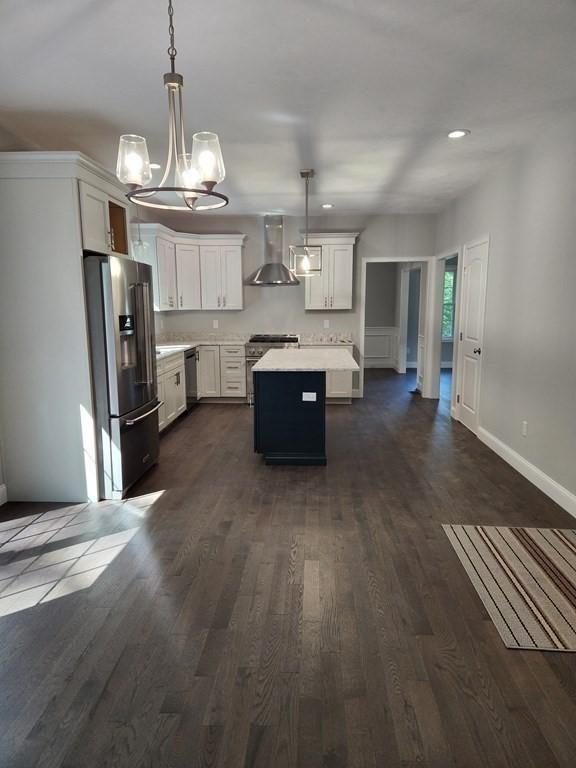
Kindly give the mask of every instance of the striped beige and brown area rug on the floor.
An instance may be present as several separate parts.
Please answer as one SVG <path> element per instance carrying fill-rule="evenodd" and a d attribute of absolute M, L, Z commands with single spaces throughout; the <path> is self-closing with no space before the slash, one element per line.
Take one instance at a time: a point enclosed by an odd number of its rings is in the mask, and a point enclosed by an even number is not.
<path fill-rule="evenodd" d="M 508 648 L 576 651 L 576 531 L 442 527 Z"/>

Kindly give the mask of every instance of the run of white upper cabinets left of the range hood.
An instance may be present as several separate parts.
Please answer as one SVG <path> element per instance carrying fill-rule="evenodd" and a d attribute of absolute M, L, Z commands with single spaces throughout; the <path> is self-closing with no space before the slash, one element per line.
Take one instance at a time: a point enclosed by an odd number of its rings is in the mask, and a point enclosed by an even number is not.
<path fill-rule="evenodd" d="M 133 240 L 138 229 L 133 227 Z M 152 266 L 154 309 L 243 309 L 244 235 L 188 235 L 141 224 L 134 258 Z"/>

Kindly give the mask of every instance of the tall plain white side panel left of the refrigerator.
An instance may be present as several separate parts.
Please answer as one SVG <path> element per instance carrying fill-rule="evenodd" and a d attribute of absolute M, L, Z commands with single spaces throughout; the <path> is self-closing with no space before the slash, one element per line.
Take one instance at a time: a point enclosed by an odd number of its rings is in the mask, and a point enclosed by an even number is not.
<path fill-rule="evenodd" d="M 84 501 L 95 459 L 77 182 L 0 179 L 0 218 L 0 433 L 8 495 Z"/>

